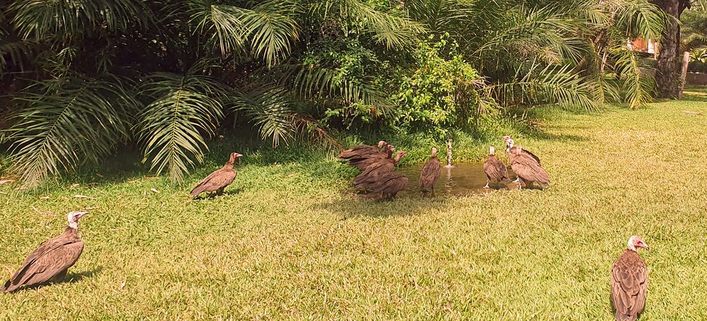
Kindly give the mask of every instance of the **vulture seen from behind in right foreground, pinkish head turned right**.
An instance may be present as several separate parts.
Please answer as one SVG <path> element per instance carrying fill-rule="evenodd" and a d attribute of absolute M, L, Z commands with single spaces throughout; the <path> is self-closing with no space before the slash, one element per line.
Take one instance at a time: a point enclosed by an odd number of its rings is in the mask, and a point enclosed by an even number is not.
<path fill-rule="evenodd" d="M 648 250 L 648 244 L 631 236 L 628 248 L 612 265 L 612 304 L 617 321 L 634 321 L 645 308 L 648 269 L 638 256 L 638 248 Z"/>

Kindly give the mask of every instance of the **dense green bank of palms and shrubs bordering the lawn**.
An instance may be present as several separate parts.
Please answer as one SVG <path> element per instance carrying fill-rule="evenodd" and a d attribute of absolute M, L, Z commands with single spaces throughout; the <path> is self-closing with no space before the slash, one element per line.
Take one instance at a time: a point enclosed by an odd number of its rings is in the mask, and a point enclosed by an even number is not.
<path fill-rule="evenodd" d="M 125 144 L 180 180 L 219 127 L 474 131 L 650 99 L 647 0 L 57 0 L 0 8 L 4 144 L 28 183 Z M 609 76 L 610 75 L 610 76 Z"/>

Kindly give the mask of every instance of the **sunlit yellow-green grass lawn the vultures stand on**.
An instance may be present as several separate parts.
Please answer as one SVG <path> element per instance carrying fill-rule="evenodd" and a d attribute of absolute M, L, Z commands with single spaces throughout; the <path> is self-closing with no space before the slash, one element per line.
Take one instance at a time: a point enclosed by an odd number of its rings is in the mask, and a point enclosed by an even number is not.
<path fill-rule="evenodd" d="M 609 268 L 633 234 L 651 249 L 641 320 L 707 319 L 707 92 L 686 98 L 547 114 L 517 139 L 547 190 L 373 202 L 331 157 L 257 153 L 216 200 L 188 196 L 215 162 L 179 188 L 0 186 L 3 281 L 66 212 L 95 207 L 73 281 L 0 293 L 0 319 L 612 320 Z"/>

